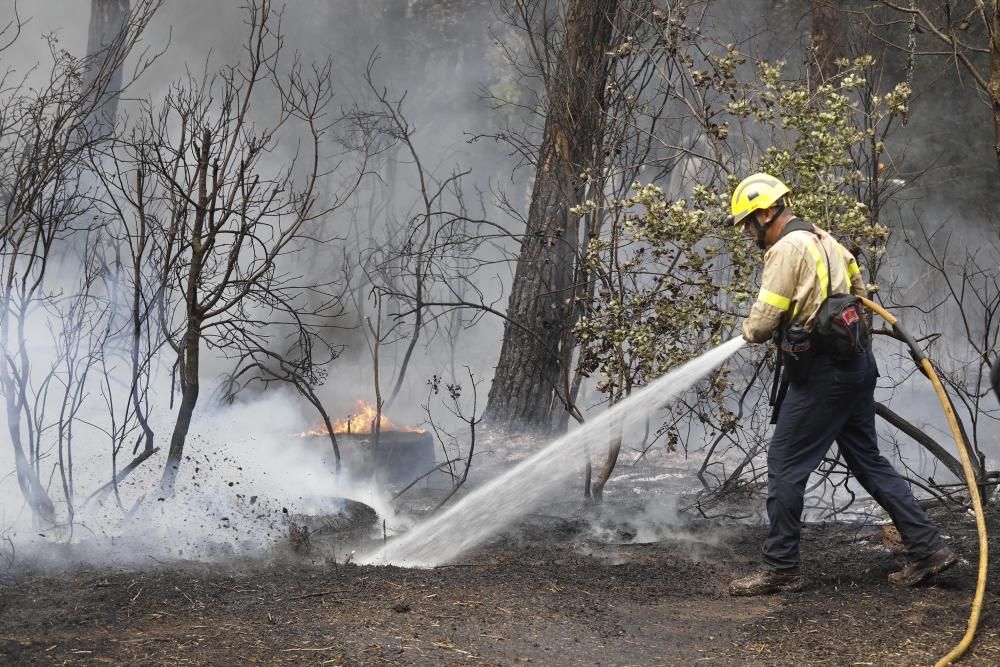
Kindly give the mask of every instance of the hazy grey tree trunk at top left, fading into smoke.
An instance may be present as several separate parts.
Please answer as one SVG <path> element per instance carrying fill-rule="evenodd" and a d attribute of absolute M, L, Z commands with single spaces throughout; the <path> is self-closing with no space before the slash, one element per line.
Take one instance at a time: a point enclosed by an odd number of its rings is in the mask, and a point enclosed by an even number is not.
<path fill-rule="evenodd" d="M 122 28 L 129 15 L 129 0 L 91 0 L 90 28 L 87 33 L 87 58 L 90 76 L 107 74 L 107 63 L 114 62 L 122 48 Z M 120 65 L 110 74 L 107 85 L 99 86 L 102 99 L 91 115 L 89 130 L 96 136 L 107 136 L 118 114 L 118 98 L 122 86 Z M 92 83 L 88 81 L 87 83 Z"/>

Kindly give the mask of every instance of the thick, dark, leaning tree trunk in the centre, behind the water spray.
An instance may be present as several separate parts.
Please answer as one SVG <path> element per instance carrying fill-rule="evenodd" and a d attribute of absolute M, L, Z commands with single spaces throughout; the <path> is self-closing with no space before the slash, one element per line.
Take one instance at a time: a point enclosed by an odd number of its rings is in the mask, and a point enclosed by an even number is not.
<path fill-rule="evenodd" d="M 561 341 L 577 314 L 580 221 L 570 208 L 600 169 L 607 52 L 618 0 L 569 0 L 535 181 L 507 306 L 503 344 L 484 418 L 506 431 L 547 432 L 566 409 Z"/>

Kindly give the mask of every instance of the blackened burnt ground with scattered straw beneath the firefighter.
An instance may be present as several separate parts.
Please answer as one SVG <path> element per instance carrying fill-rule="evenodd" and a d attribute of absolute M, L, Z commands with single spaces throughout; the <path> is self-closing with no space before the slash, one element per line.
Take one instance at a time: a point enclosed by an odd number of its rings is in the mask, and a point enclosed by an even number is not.
<path fill-rule="evenodd" d="M 315 548 L 239 566 L 15 564 L 0 580 L 0 664 L 931 664 L 965 631 L 977 557 L 967 514 L 936 518 L 965 561 L 932 585 L 890 587 L 903 559 L 877 528 L 825 524 L 805 530 L 809 588 L 763 598 L 726 593 L 763 536 L 735 523 L 623 544 L 533 516 L 425 570 Z M 963 664 L 1000 664 L 997 604 L 988 591 Z"/>

